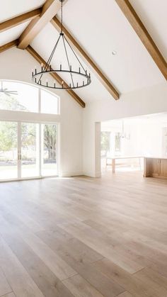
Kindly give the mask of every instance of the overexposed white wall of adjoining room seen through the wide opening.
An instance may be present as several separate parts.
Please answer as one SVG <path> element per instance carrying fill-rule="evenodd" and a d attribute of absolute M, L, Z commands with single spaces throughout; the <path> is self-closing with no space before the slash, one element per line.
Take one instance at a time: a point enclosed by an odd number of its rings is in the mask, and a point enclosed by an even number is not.
<path fill-rule="evenodd" d="M 161 117 L 159 118 L 128 118 L 124 119 L 124 135 L 121 138 L 121 151 L 116 152 L 122 156 L 146 156 L 163 154 L 163 128 L 167 127 Z M 103 122 L 101 131 L 108 131 L 115 137 L 115 133 L 122 135 L 122 120 Z M 115 147 L 111 143 L 110 153 L 115 154 Z"/>

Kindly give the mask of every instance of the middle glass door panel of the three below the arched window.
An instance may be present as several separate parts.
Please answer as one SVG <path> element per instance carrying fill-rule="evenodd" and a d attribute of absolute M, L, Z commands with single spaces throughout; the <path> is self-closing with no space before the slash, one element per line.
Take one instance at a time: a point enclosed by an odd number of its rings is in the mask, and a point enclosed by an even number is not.
<path fill-rule="evenodd" d="M 39 124 L 21 123 L 21 177 L 39 176 Z"/>

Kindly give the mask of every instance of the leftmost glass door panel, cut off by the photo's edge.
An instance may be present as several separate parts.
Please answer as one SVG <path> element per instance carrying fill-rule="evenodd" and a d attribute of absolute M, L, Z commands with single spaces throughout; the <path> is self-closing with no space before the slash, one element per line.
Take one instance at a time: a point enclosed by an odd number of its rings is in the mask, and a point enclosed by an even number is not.
<path fill-rule="evenodd" d="M 0 179 L 18 177 L 18 124 L 0 122 Z"/>

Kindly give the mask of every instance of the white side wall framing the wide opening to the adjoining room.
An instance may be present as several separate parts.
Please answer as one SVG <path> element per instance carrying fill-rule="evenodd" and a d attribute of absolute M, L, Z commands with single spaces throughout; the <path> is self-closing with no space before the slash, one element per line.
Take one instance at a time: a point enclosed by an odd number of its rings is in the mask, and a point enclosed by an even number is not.
<path fill-rule="evenodd" d="M 167 111 L 167 84 L 159 84 L 128 94 L 122 94 L 119 101 L 104 99 L 88 103 L 84 110 L 84 174 L 99 176 L 96 172 L 95 123 L 116 118 L 141 116 Z"/>

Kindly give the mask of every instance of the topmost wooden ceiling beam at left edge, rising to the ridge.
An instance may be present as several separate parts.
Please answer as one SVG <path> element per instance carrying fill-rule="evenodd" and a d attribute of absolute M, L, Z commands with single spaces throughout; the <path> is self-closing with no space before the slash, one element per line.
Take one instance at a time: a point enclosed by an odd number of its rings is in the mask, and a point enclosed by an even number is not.
<path fill-rule="evenodd" d="M 0 32 L 3 32 L 5 30 L 18 26 L 21 23 L 25 23 L 26 21 L 30 21 L 36 16 L 40 16 L 41 12 L 42 12 L 42 8 L 34 9 L 33 11 L 29 11 L 27 13 L 21 14 L 21 16 L 16 16 L 15 18 L 11 18 L 8 21 L 4 21 L 3 23 L 0 23 Z"/>

